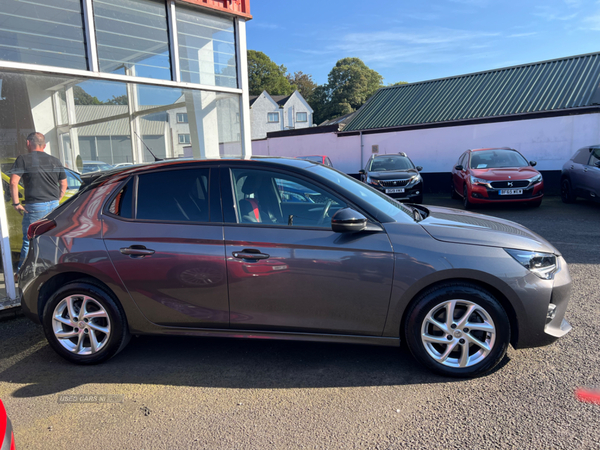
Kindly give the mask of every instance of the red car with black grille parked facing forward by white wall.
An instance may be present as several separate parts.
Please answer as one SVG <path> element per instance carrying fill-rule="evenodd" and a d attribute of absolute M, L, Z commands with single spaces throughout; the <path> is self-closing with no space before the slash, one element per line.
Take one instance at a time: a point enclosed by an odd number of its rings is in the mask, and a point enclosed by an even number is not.
<path fill-rule="evenodd" d="M 478 148 L 464 152 L 452 169 L 452 198 L 465 209 L 486 203 L 540 206 L 544 180 L 529 161 L 511 148 Z"/>

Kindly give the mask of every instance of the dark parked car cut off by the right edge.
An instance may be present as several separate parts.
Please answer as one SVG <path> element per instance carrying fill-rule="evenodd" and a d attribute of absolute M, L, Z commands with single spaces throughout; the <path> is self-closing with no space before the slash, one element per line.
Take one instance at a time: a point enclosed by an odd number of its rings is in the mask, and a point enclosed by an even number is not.
<path fill-rule="evenodd" d="M 583 147 L 565 163 L 560 178 L 562 201 L 577 197 L 600 201 L 600 145 Z"/>

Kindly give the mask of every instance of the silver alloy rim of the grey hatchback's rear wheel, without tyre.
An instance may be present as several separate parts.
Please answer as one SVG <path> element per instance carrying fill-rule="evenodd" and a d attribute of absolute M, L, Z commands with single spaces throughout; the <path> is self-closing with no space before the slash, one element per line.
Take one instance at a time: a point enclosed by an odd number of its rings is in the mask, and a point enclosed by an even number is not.
<path fill-rule="evenodd" d="M 54 308 L 52 329 L 56 340 L 71 353 L 93 355 L 110 338 L 110 317 L 92 297 L 70 295 Z"/>

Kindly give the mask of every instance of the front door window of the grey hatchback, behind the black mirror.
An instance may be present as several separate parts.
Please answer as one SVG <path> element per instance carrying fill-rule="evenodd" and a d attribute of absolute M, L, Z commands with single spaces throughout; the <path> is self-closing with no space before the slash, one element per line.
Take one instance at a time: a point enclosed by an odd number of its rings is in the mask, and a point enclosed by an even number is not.
<path fill-rule="evenodd" d="M 305 180 L 264 170 L 233 169 L 238 223 L 331 228 L 346 203 Z"/>

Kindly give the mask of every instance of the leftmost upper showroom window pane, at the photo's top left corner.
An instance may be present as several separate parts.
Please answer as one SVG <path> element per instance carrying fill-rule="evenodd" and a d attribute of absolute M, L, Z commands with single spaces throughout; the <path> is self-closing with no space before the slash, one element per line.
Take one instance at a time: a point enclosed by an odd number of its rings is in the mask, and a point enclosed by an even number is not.
<path fill-rule="evenodd" d="M 87 69 L 81 2 L 0 1 L 0 60 Z"/>

